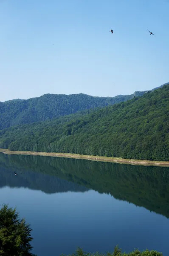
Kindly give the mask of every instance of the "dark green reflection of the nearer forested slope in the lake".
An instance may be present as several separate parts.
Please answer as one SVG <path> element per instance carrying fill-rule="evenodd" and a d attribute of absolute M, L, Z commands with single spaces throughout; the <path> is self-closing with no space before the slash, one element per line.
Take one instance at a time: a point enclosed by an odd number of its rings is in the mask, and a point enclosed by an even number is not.
<path fill-rule="evenodd" d="M 0 154 L 0 166 L 57 176 L 169 218 L 168 168 L 5 154 Z"/>

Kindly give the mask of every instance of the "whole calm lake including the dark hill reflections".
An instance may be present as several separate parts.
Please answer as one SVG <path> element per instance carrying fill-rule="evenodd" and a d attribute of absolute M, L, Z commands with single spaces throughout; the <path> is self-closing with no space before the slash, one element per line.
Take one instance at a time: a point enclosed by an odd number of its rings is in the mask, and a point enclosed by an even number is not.
<path fill-rule="evenodd" d="M 169 255 L 169 168 L 0 153 L 3 203 L 31 224 L 38 256 L 117 244 Z"/>

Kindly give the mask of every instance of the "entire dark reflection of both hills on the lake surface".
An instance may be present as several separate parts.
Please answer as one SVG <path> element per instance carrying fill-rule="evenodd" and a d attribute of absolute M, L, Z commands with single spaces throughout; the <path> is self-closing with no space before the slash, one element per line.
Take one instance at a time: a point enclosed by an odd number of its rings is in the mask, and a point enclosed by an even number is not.
<path fill-rule="evenodd" d="M 169 218 L 169 168 L 1 153 L 0 186 L 46 193 L 93 189 Z"/>

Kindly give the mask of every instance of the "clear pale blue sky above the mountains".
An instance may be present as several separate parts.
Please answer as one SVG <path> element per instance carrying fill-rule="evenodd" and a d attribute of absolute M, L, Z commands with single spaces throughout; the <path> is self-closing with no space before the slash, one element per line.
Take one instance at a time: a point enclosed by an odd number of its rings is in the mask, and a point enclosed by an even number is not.
<path fill-rule="evenodd" d="M 168 14 L 169 0 L 0 0 L 0 101 L 169 82 Z"/>

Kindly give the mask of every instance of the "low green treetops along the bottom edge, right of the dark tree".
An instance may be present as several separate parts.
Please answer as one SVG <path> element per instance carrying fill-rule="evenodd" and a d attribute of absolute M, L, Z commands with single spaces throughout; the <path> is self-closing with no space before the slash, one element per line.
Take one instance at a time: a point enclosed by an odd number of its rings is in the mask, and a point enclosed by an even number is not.
<path fill-rule="evenodd" d="M 64 256 L 62 254 L 62 256 Z M 69 256 L 163 256 L 162 253 L 159 253 L 155 250 L 145 250 L 143 252 L 139 250 L 134 250 L 133 252 L 130 253 L 122 253 L 121 249 L 118 248 L 118 246 L 115 247 L 113 253 L 107 252 L 107 253 L 86 253 L 83 251 L 81 248 L 78 248 L 76 250 L 76 253 L 70 254 Z"/>

